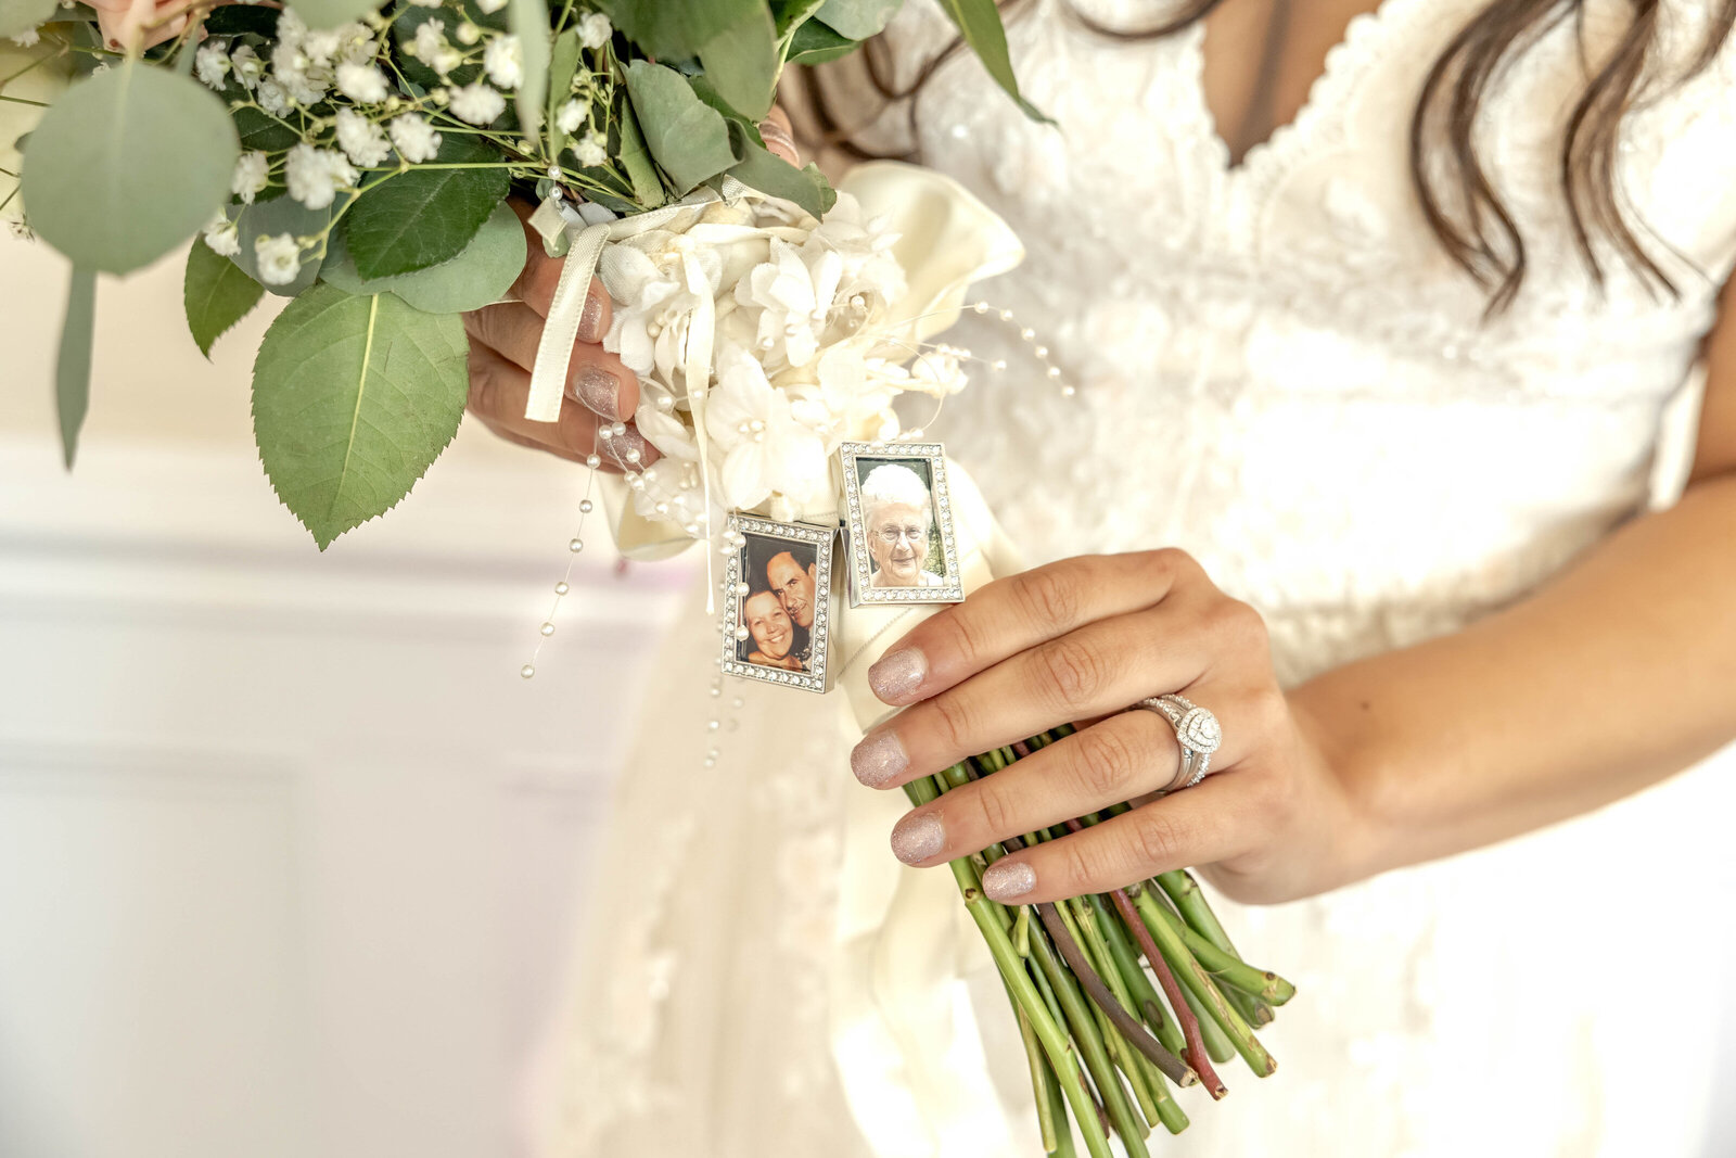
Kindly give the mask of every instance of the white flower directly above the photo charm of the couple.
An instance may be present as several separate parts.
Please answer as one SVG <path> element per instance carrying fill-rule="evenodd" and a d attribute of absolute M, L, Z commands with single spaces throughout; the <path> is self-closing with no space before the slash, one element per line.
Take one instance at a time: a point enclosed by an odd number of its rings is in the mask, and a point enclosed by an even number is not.
<path fill-rule="evenodd" d="M 759 359 L 736 345 L 717 358 L 717 387 L 705 403 L 705 431 L 724 451 L 724 502 L 746 510 L 773 493 L 802 505 L 826 486 L 826 448 L 790 417 Z"/>

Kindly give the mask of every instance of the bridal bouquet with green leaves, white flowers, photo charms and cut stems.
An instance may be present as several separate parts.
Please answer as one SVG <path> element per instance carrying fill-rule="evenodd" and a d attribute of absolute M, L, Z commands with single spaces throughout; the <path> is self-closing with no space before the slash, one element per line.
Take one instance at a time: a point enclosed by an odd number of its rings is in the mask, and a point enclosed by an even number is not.
<path fill-rule="evenodd" d="M 0 212 L 73 262 L 56 372 L 68 465 L 95 276 L 193 240 L 184 300 L 201 351 L 266 293 L 290 299 L 252 384 L 278 497 L 319 549 L 384 514 L 457 432 L 460 314 L 502 300 L 524 266 L 517 196 L 536 207 L 531 243 L 564 257 L 526 417 L 559 413 L 595 271 L 615 302 L 604 345 L 639 375 L 634 422 L 663 455 L 616 457 L 621 526 L 642 542 L 722 535 L 722 668 L 823 691 L 840 521 L 870 604 L 859 625 L 962 599 L 970 566 L 941 448 L 911 441 L 892 403 L 965 384 L 962 352 L 927 339 L 969 278 L 918 266 L 1005 226 L 957 188 L 924 203 L 887 168 L 852 174 L 861 200 L 833 191 L 757 130 L 786 64 L 851 52 L 899 2 L 0 0 Z M 995 0 L 937 2 L 1019 99 Z M 835 453 L 859 477 L 840 483 Z M 908 526 L 865 526 L 877 502 Z M 1050 740 L 906 792 L 925 802 Z M 1187 1122 L 1167 1085 L 1220 1095 L 1212 1063 L 1233 1054 L 1271 1073 L 1252 1026 L 1292 990 L 1241 962 L 1186 873 L 1009 908 L 979 873 L 1016 845 L 953 873 L 1014 1002 L 1050 1153 L 1073 1153 L 1071 1111 L 1095 1158 L 1111 1132 L 1144 1155 L 1153 1123 Z"/>

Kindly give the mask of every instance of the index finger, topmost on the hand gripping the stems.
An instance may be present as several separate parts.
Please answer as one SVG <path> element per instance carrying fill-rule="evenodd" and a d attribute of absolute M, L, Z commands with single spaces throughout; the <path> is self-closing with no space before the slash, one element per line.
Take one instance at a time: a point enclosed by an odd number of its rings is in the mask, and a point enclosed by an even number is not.
<path fill-rule="evenodd" d="M 1187 554 L 1165 549 L 1080 556 L 995 580 L 892 644 L 868 668 L 868 686 L 885 703 L 915 703 L 1083 623 L 1149 608 L 1203 575 Z"/>

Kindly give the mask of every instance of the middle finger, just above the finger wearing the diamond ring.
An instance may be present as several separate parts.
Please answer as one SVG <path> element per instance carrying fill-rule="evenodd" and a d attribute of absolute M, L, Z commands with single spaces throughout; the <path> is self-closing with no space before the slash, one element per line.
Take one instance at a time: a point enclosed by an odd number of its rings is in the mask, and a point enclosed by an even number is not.
<path fill-rule="evenodd" d="M 977 752 L 1186 688 L 1213 655 L 1241 653 L 1213 622 L 1215 608 L 1229 601 L 1210 602 L 1207 611 L 1194 602 L 1203 601 L 1168 599 L 1021 651 L 904 708 L 863 738 L 851 767 L 863 783 L 889 788 Z"/>

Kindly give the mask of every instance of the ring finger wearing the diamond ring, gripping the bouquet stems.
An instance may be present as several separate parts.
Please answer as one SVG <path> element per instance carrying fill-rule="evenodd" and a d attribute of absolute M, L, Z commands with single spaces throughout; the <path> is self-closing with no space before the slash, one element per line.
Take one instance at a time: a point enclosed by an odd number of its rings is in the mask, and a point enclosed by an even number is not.
<path fill-rule="evenodd" d="M 1224 705 L 1226 696 L 1215 700 Z M 1227 733 L 1243 738 L 1241 752 L 1231 753 L 1222 767 L 1213 762 L 1212 774 L 1252 748 L 1255 729 L 1243 727 L 1240 707 L 1224 715 L 1231 720 Z M 892 828 L 892 852 L 920 866 L 970 856 L 996 840 L 1170 790 L 1180 778 L 1180 762 L 1175 731 L 1161 715 L 1121 712 L 911 809 Z"/>

